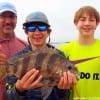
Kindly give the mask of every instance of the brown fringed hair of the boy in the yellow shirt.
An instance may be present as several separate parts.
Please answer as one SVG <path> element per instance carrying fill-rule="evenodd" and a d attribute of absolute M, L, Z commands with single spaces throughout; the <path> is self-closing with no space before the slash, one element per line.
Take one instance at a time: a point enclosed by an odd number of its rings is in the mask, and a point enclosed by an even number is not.
<path fill-rule="evenodd" d="M 92 6 L 83 6 L 80 9 L 78 9 L 74 16 L 74 23 L 77 23 L 80 19 L 80 17 L 83 16 L 83 14 L 87 14 L 89 16 L 96 18 L 96 23 L 100 22 L 100 14 L 99 12 Z"/>

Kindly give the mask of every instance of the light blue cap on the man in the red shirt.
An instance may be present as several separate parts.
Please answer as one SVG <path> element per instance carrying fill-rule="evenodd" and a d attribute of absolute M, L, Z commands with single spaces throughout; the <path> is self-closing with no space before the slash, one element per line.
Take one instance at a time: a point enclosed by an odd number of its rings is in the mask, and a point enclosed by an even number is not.
<path fill-rule="evenodd" d="M 3 12 L 6 12 L 6 11 L 10 11 L 10 12 L 14 13 L 15 15 L 17 15 L 16 8 L 13 4 L 11 4 L 9 2 L 1 2 L 0 3 L 0 14 L 2 14 Z"/>

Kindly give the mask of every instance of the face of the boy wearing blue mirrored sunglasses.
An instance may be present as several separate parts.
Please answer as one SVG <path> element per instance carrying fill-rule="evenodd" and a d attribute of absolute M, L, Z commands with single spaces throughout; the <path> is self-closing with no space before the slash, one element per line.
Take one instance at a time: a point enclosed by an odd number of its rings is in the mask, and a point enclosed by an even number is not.
<path fill-rule="evenodd" d="M 40 48 L 46 45 L 46 39 L 50 32 L 45 24 L 32 24 L 27 27 L 27 35 L 33 48 Z"/>

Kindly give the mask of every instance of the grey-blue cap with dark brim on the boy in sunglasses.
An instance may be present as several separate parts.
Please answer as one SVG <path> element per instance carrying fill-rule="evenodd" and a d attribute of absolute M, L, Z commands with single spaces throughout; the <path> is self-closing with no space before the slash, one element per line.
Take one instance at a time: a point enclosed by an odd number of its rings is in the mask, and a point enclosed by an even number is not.
<path fill-rule="evenodd" d="M 50 26 L 47 16 L 43 12 L 40 12 L 40 11 L 29 14 L 26 17 L 26 21 L 23 25 L 26 26 L 28 24 L 37 23 L 37 22 L 44 23 L 44 24 Z"/>

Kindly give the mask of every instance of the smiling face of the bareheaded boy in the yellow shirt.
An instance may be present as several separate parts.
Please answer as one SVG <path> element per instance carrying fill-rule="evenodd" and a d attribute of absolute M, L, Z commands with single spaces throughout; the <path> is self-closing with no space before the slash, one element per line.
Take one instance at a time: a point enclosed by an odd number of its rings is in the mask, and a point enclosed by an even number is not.
<path fill-rule="evenodd" d="M 85 36 L 90 36 L 94 34 L 98 23 L 94 16 L 89 16 L 88 14 L 83 14 L 77 23 L 75 23 L 79 33 Z"/>

